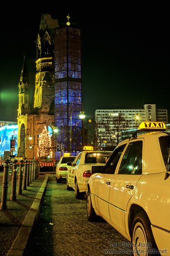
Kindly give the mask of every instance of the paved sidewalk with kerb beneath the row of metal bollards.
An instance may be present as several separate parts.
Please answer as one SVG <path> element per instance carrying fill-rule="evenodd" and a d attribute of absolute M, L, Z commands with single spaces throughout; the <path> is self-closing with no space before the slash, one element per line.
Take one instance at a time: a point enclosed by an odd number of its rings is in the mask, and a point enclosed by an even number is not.
<path fill-rule="evenodd" d="M 18 178 L 18 176 L 17 176 Z M 3 173 L 0 173 L 0 201 Z M 38 218 L 48 175 L 40 175 L 15 201 L 10 200 L 12 176 L 9 174 L 7 210 L 0 210 L 0 256 L 22 256 L 31 228 Z M 18 179 L 17 179 L 18 189 Z M 16 189 L 16 191 L 17 191 Z"/>

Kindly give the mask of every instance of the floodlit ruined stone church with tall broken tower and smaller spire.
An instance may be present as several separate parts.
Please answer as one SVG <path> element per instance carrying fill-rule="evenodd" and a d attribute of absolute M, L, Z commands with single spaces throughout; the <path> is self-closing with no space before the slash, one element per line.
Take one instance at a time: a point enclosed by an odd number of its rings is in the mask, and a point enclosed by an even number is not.
<path fill-rule="evenodd" d="M 54 28 L 57 27 L 57 19 L 52 19 L 49 14 L 42 14 L 36 40 L 36 74 L 32 105 L 29 102 L 30 83 L 24 57 L 19 82 L 17 156 L 28 160 L 37 158 L 39 134 L 45 126 L 48 128 L 54 124 L 53 49 Z"/>

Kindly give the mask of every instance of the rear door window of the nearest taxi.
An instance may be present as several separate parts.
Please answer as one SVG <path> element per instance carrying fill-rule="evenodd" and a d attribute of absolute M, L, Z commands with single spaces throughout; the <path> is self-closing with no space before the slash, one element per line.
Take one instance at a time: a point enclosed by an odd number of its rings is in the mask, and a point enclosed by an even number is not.
<path fill-rule="evenodd" d="M 118 174 L 142 174 L 142 146 L 142 140 L 129 143 Z"/>

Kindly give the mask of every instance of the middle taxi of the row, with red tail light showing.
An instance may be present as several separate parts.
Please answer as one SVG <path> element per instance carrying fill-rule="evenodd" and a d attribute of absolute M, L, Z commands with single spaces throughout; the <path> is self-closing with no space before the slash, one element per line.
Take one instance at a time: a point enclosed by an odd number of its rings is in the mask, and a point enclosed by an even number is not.
<path fill-rule="evenodd" d="M 80 199 L 86 193 L 89 177 L 101 171 L 111 151 L 96 151 L 93 147 L 85 146 L 77 155 L 73 163 L 68 163 L 70 169 L 67 173 L 67 190 L 75 191 L 75 198 Z"/>

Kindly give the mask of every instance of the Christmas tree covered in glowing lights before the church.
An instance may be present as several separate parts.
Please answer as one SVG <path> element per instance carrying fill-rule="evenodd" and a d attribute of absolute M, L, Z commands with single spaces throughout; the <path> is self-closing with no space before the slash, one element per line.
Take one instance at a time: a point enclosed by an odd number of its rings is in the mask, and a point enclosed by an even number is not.
<path fill-rule="evenodd" d="M 49 131 L 45 126 L 43 131 L 40 133 L 40 137 L 38 139 L 38 157 L 46 157 L 49 156 L 52 158 L 52 147 L 51 147 L 51 136 L 49 135 Z"/>

